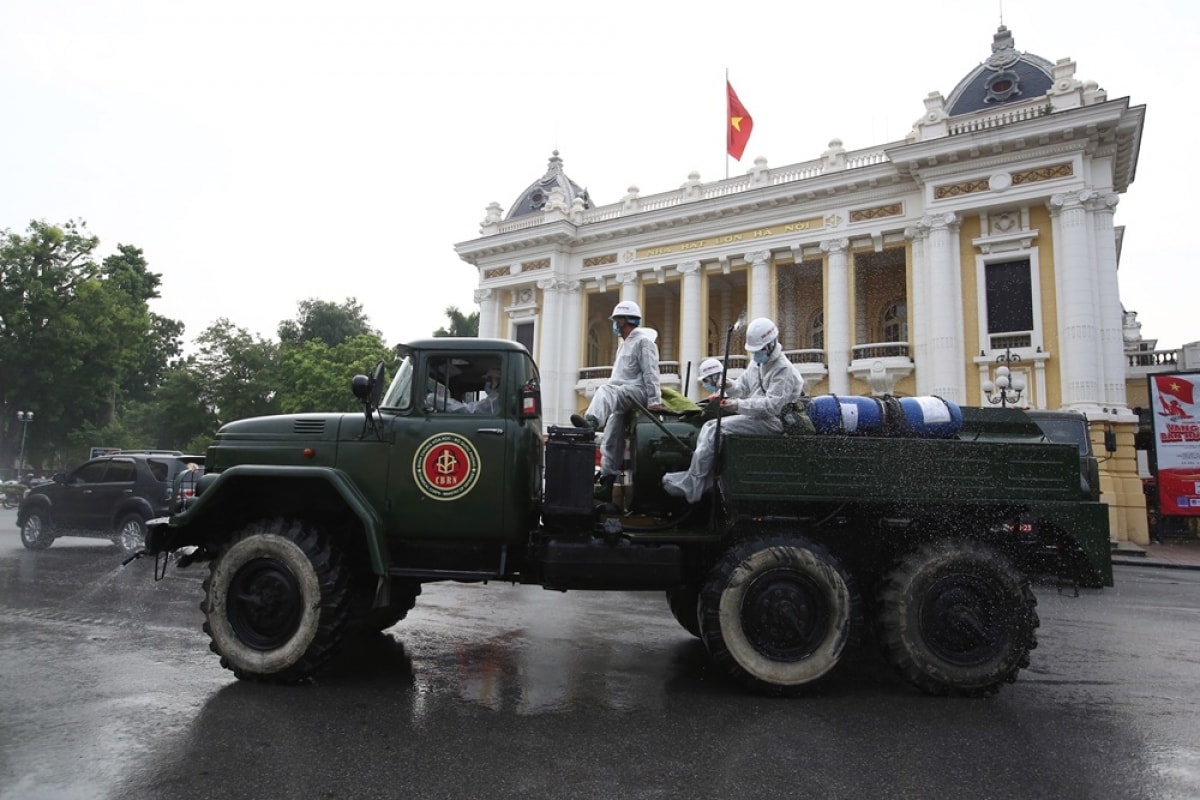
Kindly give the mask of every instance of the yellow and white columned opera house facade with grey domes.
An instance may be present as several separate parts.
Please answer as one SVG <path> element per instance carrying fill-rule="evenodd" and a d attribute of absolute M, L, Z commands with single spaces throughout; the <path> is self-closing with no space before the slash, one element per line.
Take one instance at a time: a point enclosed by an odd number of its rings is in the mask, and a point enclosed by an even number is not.
<path fill-rule="evenodd" d="M 743 176 L 694 173 L 608 205 L 556 151 L 456 245 L 479 270 L 480 335 L 530 349 L 552 423 L 607 378 L 620 300 L 659 331 L 664 384 L 694 397 L 740 314 L 778 323 L 809 395 L 984 405 L 1007 366 L 1024 389 L 1006 403 L 1080 410 L 1097 443 L 1116 434 L 1102 465 L 1114 537 L 1148 542 L 1116 224 L 1145 107 L 1110 100 L 1068 59 L 1018 50 L 1001 26 L 989 58 L 924 109 L 901 142 L 834 140 L 815 161 L 757 158 Z M 731 371 L 745 355 L 733 337 Z"/>

